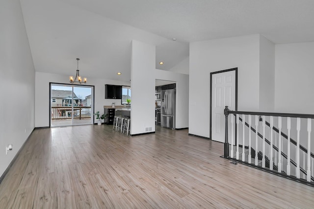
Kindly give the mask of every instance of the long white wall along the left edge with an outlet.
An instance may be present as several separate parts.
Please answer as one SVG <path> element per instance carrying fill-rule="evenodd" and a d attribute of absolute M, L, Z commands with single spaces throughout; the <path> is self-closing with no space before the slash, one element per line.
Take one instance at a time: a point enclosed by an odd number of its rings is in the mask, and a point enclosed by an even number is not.
<path fill-rule="evenodd" d="M 0 28 L 1 176 L 34 129 L 35 70 L 19 0 L 0 1 Z"/>

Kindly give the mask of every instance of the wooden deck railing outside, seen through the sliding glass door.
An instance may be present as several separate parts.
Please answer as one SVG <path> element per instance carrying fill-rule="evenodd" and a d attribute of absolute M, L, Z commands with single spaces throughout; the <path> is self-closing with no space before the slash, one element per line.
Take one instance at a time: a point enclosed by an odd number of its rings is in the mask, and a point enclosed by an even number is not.
<path fill-rule="evenodd" d="M 90 106 L 52 106 L 51 107 L 51 118 L 52 120 L 65 120 L 71 119 L 73 115 L 74 119 L 91 118 L 91 107 Z"/>

